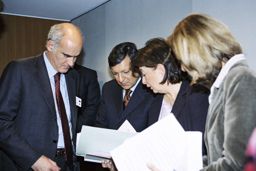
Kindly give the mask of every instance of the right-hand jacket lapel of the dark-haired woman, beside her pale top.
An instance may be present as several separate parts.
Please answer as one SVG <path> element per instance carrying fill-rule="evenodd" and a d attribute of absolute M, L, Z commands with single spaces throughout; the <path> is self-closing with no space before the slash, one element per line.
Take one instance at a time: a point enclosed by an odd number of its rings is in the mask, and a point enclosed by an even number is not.
<path fill-rule="evenodd" d="M 189 82 L 188 81 L 182 82 L 180 91 L 177 95 L 177 98 L 174 102 L 174 105 L 173 105 L 172 111 L 171 111 L 173 113 L 173 115 L 175 116 L 175 118 L 177 118 L 179 116 L 180 111 L 186 102 L 186 98 L 184 95 L 187 94 L 188 90 L 189 90 Z"/>

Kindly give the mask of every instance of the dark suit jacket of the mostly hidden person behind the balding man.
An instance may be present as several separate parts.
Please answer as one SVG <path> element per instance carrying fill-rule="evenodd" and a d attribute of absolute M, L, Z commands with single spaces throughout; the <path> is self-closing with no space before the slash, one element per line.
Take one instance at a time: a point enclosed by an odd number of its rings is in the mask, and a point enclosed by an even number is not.
<path fill-rule="evenodd" d="M 79 75 L 78 97 L 82 99 L 78 107 L 77 132 L 82 126 L 92 126 L 99 110 L 100 87 L 97 72 L 75 63 L 73 67 Z"/>

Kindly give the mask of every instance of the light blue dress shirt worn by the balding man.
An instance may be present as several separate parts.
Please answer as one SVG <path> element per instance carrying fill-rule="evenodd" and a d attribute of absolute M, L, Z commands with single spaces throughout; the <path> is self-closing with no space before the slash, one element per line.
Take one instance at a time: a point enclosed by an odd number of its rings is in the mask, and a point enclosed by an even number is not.
<path fill-rule="evenodd" d="M 56 114 L 57 114 L 57 123 L 59 126 L 59 141 L 58 141 L 58 147 L 57 148 L 64 148 L 64 139 L 63 139 L 63 133 L 62 133 L 62 126 L 61 126 L 61 118 L 58 112 L 57 108 L 57 102 L 56 102 L 56 95 L 55 95 L 55 82 L 54 82 L 54 75 L 57 73 L 57 71 L 53 68 L 52 64 L 46 57 L 46 51 L 44 52 L 44 59 L 45 59 L 45 64 L 46 68 L 48 71 L 48 75 L 50 78 L 51 86 L 52 86 L 52 91 L 53 91 L 53 98 L 54 98 L 54 103 L 55 103 L 55 109 L 56 109 Z M 63 97 L 64 105 L 66 108 L 66 113 L 68 116 L 68 121 L 69 121 L 69 129 L 70 129 L 70 135 L 72 138 L 72 132 L 71 132 L 71 112 L 70 112 L 70 104 L 69 104 L 69 96 L 68 96 L 68 91 L 67 91 L 67 84 L 66 84 L 66 79 L 65 75 L 62 73 L 61 74 L 61 79 L 60 79 L 60 89 L 61 89 L 61 94 Z"/>

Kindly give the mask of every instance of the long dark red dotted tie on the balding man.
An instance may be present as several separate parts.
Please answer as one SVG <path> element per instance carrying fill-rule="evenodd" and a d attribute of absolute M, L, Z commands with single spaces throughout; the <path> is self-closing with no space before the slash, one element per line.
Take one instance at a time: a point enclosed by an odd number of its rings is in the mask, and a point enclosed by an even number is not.
<path fill-rule="evenodd" d="M 62 126 L 63 138 L 64 138 L 66 161 L 67 161 L 69 168 L 71 168 L 72 154 L 73 154 L 72 142 L 71 142 L 71 136 L 70 136 L 69 121 L 68 121 L 64 101 L 63 101 L 63 98 L 61 95 L 61 90 L 60 90 L 60 77 L 61 77 L 60 72 L 57 72 L 54 75 L 55 95 L 56 95 L 58 112 L 59 112 L 59 115 L 61 118 L 61 126 Z"/>

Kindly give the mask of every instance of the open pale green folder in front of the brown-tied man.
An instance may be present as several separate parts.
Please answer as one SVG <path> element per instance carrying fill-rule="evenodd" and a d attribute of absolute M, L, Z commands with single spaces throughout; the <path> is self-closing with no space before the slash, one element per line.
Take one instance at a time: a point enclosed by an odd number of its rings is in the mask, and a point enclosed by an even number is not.
<path fill-rule="evenodd" d="M 125 127 L 125 129 L 132 128 Z M 76 155 L 85 156 L 85 161 L 98 162 L 111 158 L 110 151 L 121 145 L 126 138 L 138 133 L 83 126 L 77 136 Z"/>

